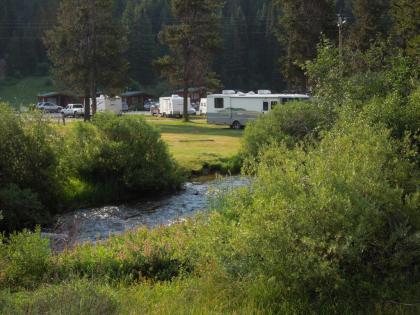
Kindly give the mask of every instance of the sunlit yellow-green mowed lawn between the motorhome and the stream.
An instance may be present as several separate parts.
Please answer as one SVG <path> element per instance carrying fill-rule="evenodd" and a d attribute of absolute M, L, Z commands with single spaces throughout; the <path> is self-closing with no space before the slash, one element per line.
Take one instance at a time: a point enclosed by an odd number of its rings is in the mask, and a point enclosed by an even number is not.
<path fill-rule="evenodd" d="M 198 171 L 205 162 L 217 162 L 239 152 L 242 130 L 208 125 L 204 119 L 185 123 L 175 119 L 149 119 L 158 127 L 174 158 L 185 168 Z"/>

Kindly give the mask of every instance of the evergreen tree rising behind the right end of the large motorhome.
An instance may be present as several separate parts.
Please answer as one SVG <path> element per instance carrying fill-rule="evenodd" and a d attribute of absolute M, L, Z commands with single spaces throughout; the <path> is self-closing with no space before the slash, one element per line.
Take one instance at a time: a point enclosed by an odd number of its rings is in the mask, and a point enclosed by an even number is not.
<path fill-rule="evenodd" d="M 306 79 L 301 65 L 316 55 L 316 44 L 321 34 L 336 34 L 335 2 L 332 0 L 278 0 L 282 16 L 279 40 L 284 49 L 282 72 L 288 89 L 306 90 Z"/>

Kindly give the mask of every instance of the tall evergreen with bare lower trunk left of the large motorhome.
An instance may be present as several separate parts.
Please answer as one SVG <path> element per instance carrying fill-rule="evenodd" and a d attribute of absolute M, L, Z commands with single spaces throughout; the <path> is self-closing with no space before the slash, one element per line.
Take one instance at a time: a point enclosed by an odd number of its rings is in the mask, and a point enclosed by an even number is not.
<path fill-rule="evenodd" d="M 219 23 L 222 0 L 173 0 L 172 14 L 177 24 L 160 34 L 171 50 L 157 61 L 163 76 L 184 91 L 184 120 L 188 120 L 188 88 L 216 84 L 211 72 L 213 53 L 220 46 Z"/>

